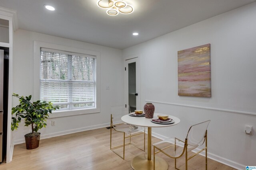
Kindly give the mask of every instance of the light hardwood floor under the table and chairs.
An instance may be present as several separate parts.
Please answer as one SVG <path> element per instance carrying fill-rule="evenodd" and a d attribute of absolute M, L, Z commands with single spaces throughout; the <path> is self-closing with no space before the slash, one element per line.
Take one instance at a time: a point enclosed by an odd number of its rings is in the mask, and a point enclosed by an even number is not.
<path fill-rule="evenodd" d="M 114 134 L 114 143 L 121 136 Z M 160 139 L 152 137 L 152 143 Z M 134 142 L 142 145 L 142 137 Z M 147 144 L 147 138 L 146 138 Z M 146 147 L 147 149 L 147 147 Z M 132 170 L 130 161 L 134 156 L 143 154 L 139 149 L 127 146 L 125 160 L 110 150 L 110 129 L 100 128 L 73 133 L 60 137 L 40 140 L 37 149 L 27 150 L 25 144 L 14 146 L 12 162 L 0 165 L 0 170 Z M 190 153 L 191 154 L 191 153 Z M 168 162 L 169 170 L 174 169 L 174 160 L 158 154 Z M 188 162 L 189 170 L 204 170 L 203 156 L 195 156 Z M 184 158 L 178 161 L 178 168 L 184 170 Z M 234 170 L 229 166 L 208 159 L 208 170 Z"/>

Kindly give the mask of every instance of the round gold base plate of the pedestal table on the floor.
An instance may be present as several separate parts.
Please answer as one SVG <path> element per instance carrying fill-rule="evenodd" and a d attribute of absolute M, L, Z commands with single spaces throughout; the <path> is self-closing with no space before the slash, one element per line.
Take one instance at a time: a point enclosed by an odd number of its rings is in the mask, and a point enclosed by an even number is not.
<path fill-rule="evenodd" d="M 168 164 L 164 159 L 158 156 L 155 156 L 155 159 L 156 170 L 168 170 Z M 132 159 L 131 166 L 134 170 L 153 170 L 154 162 L 153 160 L 148 160 L 147 154 L 142 154 Z"/>

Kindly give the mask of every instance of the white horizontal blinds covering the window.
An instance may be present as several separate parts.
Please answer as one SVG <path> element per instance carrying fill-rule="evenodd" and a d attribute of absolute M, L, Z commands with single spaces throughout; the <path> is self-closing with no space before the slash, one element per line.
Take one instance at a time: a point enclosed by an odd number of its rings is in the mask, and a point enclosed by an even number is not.
<path fill-rule="evenodd" d="M 41 48 L 40 100 L 60 109 L 95 107 L 95 57 Z"/>

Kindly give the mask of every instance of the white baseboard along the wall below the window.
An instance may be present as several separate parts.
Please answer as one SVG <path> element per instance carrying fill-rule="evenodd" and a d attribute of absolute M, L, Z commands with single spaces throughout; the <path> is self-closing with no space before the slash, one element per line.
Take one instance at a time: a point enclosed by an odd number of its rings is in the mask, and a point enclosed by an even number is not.
<path fill-rule="evenodd" d="M 60 132 L 56 132 L 56 133 L 49 133 L 49 134 L 46 134 L 46 135 L 40 135 L 40 139 L 47 139 L 47 138 L 51 138 L 51 137 L 68 135 L 68 134 L 71 134 L 71 133 L 88 131 L 88 130 L 92 130 L 92 129 L 99 129 L 99 128 L 108 127 L 108 126 L 110 126 L 110 123 L 87 126 L 87 127 L 77 128 L 77 129 L 70 129 L 70 130 L 67 130 L 67 131 L 60 131 Z M 19 140 L 14 141 L 14 145 L 17 145 L 17 144 L 20 144 L 20 143 L 25 143 L 25 139 L 23 138 L 23 139 L 19 139 Z"/>

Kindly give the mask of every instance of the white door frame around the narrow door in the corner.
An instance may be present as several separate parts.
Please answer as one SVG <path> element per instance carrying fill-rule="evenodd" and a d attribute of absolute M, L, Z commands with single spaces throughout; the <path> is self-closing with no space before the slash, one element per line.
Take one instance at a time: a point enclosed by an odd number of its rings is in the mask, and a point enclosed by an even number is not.
<path fill-rule="evenodd" d="M 138 93 L 138 96 L 136 96 L 136 108 L 137 109 L 142 109 L 141 108 L 141 90 L 140 90 L 140 55 L 130 55 L 124 57 L 124 103 L 127 105 L 127 110 L 128 110 L 128 105 L 129 105 L 129 100 L 128 100 L 128 62 L 131 61 L 130 63 L 136 62 L 136 93 Z M 127 68 L 125 70 L 125 68 Z"/>

